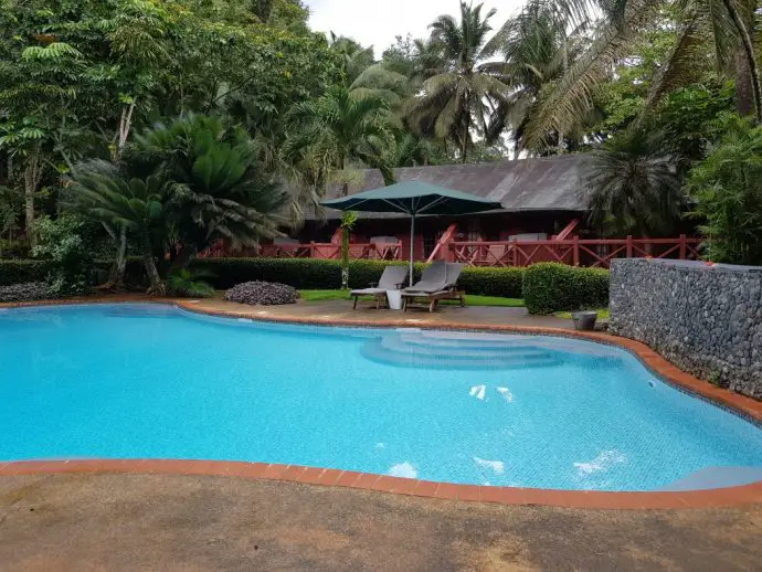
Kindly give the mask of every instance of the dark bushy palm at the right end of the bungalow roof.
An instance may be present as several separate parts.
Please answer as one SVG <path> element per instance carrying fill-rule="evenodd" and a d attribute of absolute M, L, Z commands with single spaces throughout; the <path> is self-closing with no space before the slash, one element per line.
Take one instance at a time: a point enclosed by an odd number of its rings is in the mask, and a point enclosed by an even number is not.
<path fill-rule="evenodd" d="M 591 224 L 614 234 L 669 233 L 686 205 L 682 166 L 659 134 L 639 129 L 592 151 L 581 191 Z"/>

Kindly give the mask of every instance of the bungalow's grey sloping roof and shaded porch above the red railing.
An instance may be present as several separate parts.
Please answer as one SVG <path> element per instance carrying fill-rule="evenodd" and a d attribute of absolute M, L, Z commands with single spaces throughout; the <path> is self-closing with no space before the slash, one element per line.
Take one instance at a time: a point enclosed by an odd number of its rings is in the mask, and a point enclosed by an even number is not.
<path fill-rule="evenodd" d="M 426 181 L 498 201 L 502 211 L 467 216 L 421 216 L 416 220 L 414 252 L 426 259 L 449 230 L 452 240 L 464 242 L 547 240 L 564 229 L 580 229 L 585 201 L 579 195 L 579 172 L 584 160 L 580 155 L 526 159 L 478 165 L 410 167 L 394 171 L 398 181 Z M 362 184 L 349 193 L 383 187 L 378 170 L 363 172 Z M 341 195 L 331 188 L 329 199 Z M 293 236 L 298 243 L 330 243 L 337 239 L 341 212 L 326 211 L 324 220 L 309 218 Z M 358 213 L 351 242 L 370 244 L 392 239 L 410 248 L 410 220 L 390 213 Z M 452 225 L 455 225 L 453 227 Z M 582 225 L 583 226 L 583 225 Z"/>

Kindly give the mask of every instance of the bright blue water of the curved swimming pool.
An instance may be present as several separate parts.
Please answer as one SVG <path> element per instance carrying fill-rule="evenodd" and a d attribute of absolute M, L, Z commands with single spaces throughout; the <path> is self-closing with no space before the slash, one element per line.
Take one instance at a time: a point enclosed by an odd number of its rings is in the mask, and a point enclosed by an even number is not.
<path fill-rule="evenodd" d="M 4 460 L 258 460 L 600 490 L 762 470 L 762 430 L 616 348 L 151 305 L 0 311 L 0 427 Z"/>

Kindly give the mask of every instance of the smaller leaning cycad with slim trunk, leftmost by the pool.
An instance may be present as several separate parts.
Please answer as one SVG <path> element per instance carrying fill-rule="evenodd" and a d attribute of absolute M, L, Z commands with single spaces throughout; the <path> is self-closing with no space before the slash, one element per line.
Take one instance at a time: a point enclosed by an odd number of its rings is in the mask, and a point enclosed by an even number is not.
<path fill-rule="evenodd" d="M 154 258 L 154 246 L 167 231 L 168 186 L 158 174 L 127 179 L 100 159 L 76 167 L 71 187 L 75 208 L 86 216 L 123 227 L 137 239 L 152 294 L 166 293 Z"/>

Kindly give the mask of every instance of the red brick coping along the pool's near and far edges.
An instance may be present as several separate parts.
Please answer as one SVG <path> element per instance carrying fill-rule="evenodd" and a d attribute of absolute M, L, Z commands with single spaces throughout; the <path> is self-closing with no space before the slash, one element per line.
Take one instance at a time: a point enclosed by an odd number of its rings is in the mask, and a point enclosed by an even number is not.
<path fill-rule="evenodd" d="M 73 300 L 51 300 L 34 304 L 0 304 L 0 307 L 39 306 L 57 304 L 91 304 L 147 301 L 145 297 L 83 298 Z M 742 415 L 762 422 L 762 402 L 731 393 L 701 381 L 674 367 L 646 345 L 606 333 L 578 332 L 555 328 L 533 328 L 464 322 L 420 322 L 406 320 L 356 320 L 342 318 L 306 318 L 304 316 L 274 316 L 266 318 L 247 313 L 207 308 L 188 300 L 151 300 L 162 304 L 177 304 L 182 309 L 222 317 L 247 318 L 261 321 L 277 321 L 300 325 L 331 325 L 372 328 L 416 327 L 421 329 L 448 329 L 469 331 L 493 331 L 508 333 L 538 333 L 564 336 L 620 346 L 637 356 L 656 374 L 670 383 L 709 401 L 732 409 Z M 390 477 L 387 475 L 356 473 L 297 465 L 274 465 L 266 463 L 176 460 L 176 459 L 68 459 L 68 460 L 27 460 L 1 463 L 0 477 L 34 474 L 172 474 L 229 476 L 258 480 L 282 480 L 309 485 L 348 487 L 375 490 L 396 495 L 438 498 L 459 501 L 494 502 L 499 505 L 540 505 L 588 509 L 679 509 L 728 507 L 747 504 L 762 504 L 762 481 L 728 488 L 686 491 L 646 492 L 604 492 L 581 490 L 550 490 L 515 487 L 486 487 L 478 485 L 454 485 L 426 480 Z"/>

